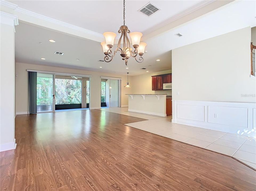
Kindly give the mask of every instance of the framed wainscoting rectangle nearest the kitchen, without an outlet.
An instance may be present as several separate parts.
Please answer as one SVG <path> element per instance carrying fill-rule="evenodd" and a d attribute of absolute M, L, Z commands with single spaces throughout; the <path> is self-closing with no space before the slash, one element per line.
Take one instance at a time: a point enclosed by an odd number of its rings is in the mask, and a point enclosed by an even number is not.
<path fill-rule="evenodd" d="M 205 106 L 177 104 L 177 118 L 205 121 Z"/>

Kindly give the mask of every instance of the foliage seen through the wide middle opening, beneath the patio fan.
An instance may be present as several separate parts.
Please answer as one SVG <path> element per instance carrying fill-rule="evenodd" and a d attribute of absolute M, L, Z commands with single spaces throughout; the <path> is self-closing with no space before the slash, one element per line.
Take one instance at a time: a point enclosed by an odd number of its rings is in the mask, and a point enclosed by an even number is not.
<path fill-rule="evenodd" d="M 55 104 L 82 103 L 82 80 L 55 79 Z"/>

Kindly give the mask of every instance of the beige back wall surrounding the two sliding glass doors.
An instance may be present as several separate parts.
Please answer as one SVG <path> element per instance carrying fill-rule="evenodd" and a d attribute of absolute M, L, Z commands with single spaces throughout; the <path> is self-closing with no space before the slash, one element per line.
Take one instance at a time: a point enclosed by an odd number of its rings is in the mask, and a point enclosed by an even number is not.
<path fill-rule="evenodd" d="M 16 63 L 16 112 L 28 111 L 28 81 L 27 81 L 27 69 L 74 73 L 82 75 L 92 75 L 91 77 L 91 106 L 92 108 L 100 108 L 100 91 L 101 91 L 101 78 L 100 76 L 118 77 L 121 80 L 121 105 L 128 105 L 128 97 L 124 94 L 131 93 L 131 88 L 124 88 L 126 84 L 126 75 L 118 75 L 112 73 L 101 73 L 86 70 L 75 70 L 68 68 L 41 66 L 35 64 Z"/>

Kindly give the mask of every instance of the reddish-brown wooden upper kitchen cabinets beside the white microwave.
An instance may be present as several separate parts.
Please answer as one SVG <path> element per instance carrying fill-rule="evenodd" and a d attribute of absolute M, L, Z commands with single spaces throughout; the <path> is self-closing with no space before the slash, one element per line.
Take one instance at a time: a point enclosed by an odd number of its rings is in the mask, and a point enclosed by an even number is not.
<path fill-rule="evenodd" d="M 162 74 L 158 76 L 152 76 L 152 90 L 164 90 L 164 85 L 172 83 L 172 74 Z"/>

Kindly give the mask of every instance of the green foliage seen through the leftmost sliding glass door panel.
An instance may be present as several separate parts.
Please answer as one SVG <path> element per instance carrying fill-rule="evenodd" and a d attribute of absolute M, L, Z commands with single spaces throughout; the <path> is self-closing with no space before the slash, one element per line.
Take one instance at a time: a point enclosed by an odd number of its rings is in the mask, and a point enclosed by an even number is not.
<path fill-rule="evenodd" d="M 52 94 L 52 78 L 37 77 L 36 105 L 51 105 Z"/>

